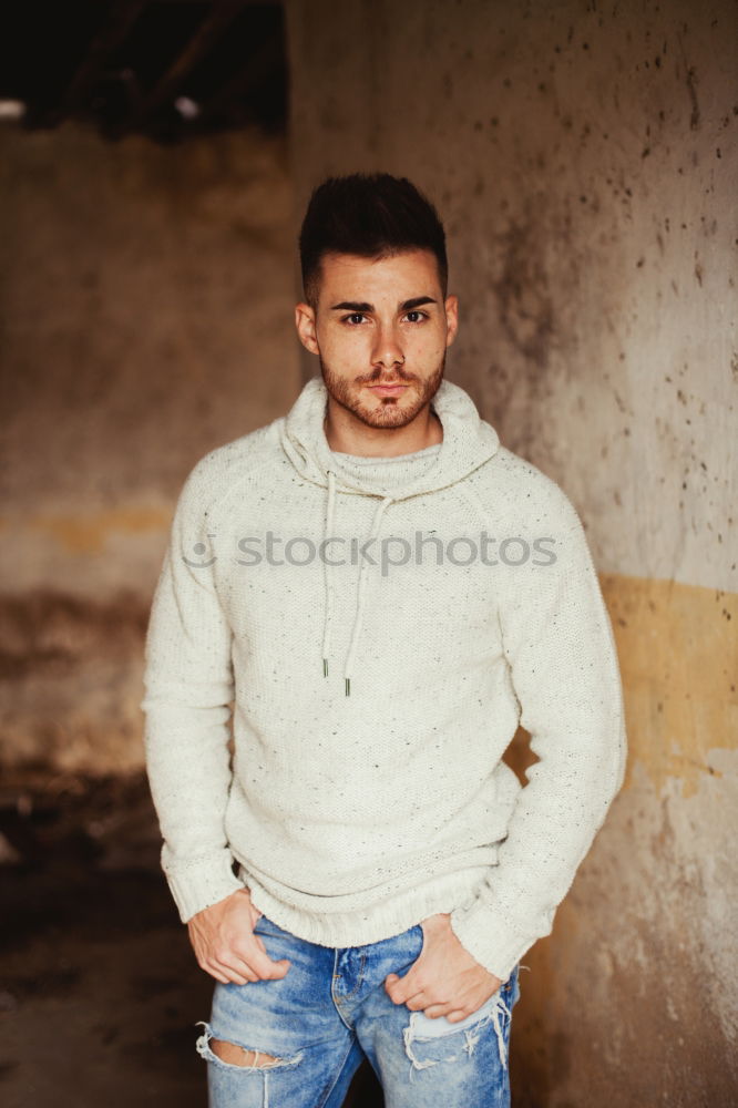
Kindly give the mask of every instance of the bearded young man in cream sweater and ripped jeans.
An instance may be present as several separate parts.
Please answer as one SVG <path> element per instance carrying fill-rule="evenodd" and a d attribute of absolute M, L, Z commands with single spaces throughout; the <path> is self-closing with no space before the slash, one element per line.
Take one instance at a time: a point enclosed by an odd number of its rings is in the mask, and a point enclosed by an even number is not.
<path fill-rule="evenodd" d="M 368 1057 L 388 1108 L 505 1105 L 520 960 L 623 781 L 612 630 L 571 503 L 443 378 L 433 207 L 334 178 L 300 250 L 321 376 L 191 473 L 147 638 L 211 1102 L 338 1108 Z"/>

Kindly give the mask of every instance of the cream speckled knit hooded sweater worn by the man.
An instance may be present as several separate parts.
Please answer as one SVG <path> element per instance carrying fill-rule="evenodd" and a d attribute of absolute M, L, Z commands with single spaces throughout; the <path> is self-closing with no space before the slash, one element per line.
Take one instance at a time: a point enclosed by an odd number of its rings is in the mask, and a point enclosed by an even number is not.
<path fill-rule="evenodd" d="M 316 378 L 195 466 L 148 627 L 148 774 L 183 921 L 243 884 L 328 946 L 450 912 L 505 979 L 622 784 L 621 680 L 564 493 L 458 386 L 433 408 L 429 464 L 352 461 Z"/>

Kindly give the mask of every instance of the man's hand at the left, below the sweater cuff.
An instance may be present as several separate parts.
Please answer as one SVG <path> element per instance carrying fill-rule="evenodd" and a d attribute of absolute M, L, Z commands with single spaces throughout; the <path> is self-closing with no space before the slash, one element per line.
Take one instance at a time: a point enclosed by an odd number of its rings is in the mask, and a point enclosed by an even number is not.
<path fill-rule="evenodd" d="M 284 977 L 290 963 L 287 958 L 273 962 L 254 934 L 260 915 L 248 889 L 238 889 L 193 915 L 187 929 L 199 967 L 223 985 Z"/>

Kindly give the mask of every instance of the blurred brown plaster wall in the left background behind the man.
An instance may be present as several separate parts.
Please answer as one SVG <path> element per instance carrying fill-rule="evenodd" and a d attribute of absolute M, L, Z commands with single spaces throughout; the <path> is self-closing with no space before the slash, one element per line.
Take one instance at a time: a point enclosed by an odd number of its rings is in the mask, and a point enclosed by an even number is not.
<path fill-rule="evenodd" d="M 0 189 L 0 765 L 141 766 L 175 497 L 299 389 L 285 142 L 6 130 Z"/>

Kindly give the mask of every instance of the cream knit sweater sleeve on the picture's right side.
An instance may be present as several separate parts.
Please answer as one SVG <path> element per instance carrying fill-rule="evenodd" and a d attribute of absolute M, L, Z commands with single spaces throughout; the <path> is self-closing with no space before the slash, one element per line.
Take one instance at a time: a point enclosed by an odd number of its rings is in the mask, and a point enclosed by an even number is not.
<path fill-rule="evenodd" d="M 546 480 L 545 489 L 536 526 L 555 540 L 549 548 L 556 561 L 509 567 L 500 602 L 520 721 L 539 761 L 526 772 L 498 864 L 451 915 L 462 945 L 502 981 L 551 933 L 625 771 L 609 617 L 580 519 L 557 485 Z"/>

